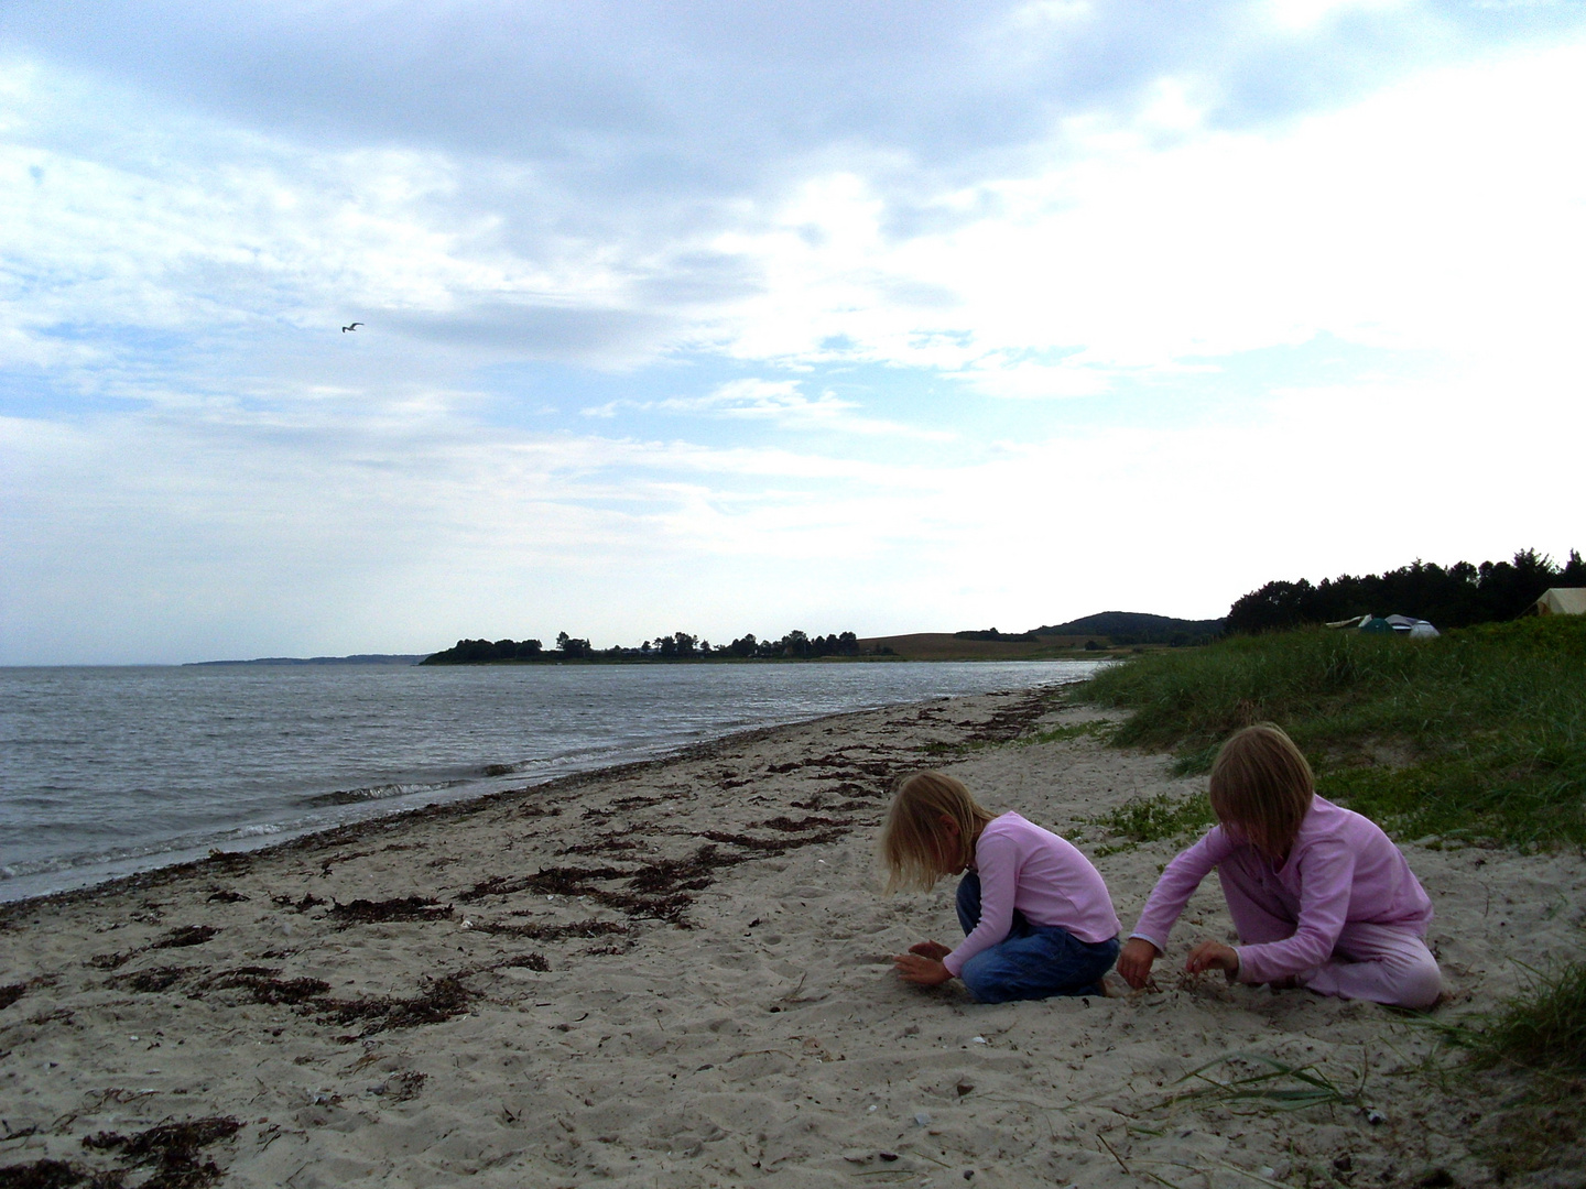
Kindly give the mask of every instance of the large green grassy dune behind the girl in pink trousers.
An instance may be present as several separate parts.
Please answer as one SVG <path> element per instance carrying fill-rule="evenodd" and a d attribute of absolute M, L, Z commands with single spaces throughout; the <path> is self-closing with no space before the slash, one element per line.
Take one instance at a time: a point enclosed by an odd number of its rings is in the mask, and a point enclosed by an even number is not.
<path fill-rule="evenodd" d="M 1120 745 L 1204 772 L 1234 729 L 1275 721 L 1318 789 L 1404 837 L 1586 843 L 1586 617 L 1435 640 L 1301 629 L 1136 656 L 1078 696 L 1132 710 Z"/>

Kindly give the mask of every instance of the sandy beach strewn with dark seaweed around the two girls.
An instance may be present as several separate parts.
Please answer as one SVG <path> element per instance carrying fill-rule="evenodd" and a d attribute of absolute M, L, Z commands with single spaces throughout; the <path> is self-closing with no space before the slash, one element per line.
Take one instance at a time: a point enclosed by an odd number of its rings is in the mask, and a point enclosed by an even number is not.
<path fill-rule="evenodd" d="M 1017 742 L 1098 718 L 1055 691 L 826 718 L 5 905 L 0 1186 L 1494 1183 L 1510 1075 L 1413 1016 L 1175 973 L 1231 937 L 1212 883 L 1158 989 L 986 1007 L 895 978 L 958 935 L 952 881 L 879 893 L 918 767 L 1075 840 L 1134 923 L 1175 847 L 1086 823 L 1204 778 L 1086 731 Z M 1578 953 L 1578 854 L 1405 851 L 1434 1019 Z M 1202 1067 L 1337 1094 L 1278 1110 Z"/>

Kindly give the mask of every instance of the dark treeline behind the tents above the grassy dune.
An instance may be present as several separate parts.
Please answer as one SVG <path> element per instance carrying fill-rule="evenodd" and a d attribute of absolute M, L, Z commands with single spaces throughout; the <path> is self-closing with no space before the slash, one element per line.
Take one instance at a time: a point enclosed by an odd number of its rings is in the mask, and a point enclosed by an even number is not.
<path fill-rule="evenodd" d="M 1439 628 L 1469 628 L 1524 614 L 1550 587 L 1586 587 L 1586 563 L 1578 552 L 1572 549 L 1564 566 L 1526 549 L 1513 561 L 1480 566 L 1458 561 L 1445 569 L 1416 561 L 1386 574 L 1342 574 L 1315 587 L 1305 579 L 1269 582 L 1229 609 L 1228 631 L 1281 631 L 1356 615 L 1412 615 Z"/>

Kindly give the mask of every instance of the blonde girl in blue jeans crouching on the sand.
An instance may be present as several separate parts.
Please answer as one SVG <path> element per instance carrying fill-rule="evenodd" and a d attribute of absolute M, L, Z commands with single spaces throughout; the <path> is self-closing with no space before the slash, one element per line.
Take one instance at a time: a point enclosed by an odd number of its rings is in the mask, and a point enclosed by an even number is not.
<path fill-rule="evenodd" d="M 982 1004 L 1047 996 L 1099 996 L 1118 958 L 1118 916 L 1090 859 L 1018 813 L 993 816 L 940 772 L 898 786 L 880 839 L 887 891 L 958 885 L 967 934 L 948 951 L 920 942 L 893 964 L 909 983 L 961 978 Z"/>

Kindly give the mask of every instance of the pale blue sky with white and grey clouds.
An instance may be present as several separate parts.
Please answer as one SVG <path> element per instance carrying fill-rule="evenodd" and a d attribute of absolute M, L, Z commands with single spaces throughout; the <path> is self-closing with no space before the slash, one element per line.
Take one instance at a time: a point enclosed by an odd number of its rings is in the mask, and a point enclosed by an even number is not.
<path fill-rule="evenodd" d="M 1562 560 L 1583 276 L 1580 0 L 6 0 L 0 664 Z"/>

